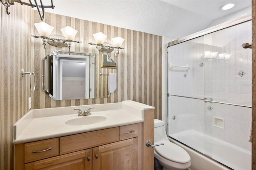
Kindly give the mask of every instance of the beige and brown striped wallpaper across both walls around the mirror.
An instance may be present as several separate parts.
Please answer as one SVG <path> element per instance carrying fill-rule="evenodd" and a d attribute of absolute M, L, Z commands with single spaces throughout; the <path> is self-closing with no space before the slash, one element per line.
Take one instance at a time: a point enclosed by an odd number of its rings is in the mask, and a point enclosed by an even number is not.
<path fill-rule="evenodd" d="M 76 18 L 45 14 L 44 22 L 55 27 L 52 34 L 61 34 L 60 28 L 72 26 L 78 30 L 76 40 L 80 44 L 72 44 L 72 51 L 96 53 L 96 48 L 88 42 L 94 42 L 92 34 L 104 32 L 107 42 L 116 36 L 123 37 L 124 50 L 118 57 L 109 54 L 117 64 L 117 69 L 96 69 L 96 79 L 102 73 L 117 73 L 117 90 L 108 98 L 54 101 L 41 90 L 42 58 L 56 49 L 48 45 L 44 50 L 34 23 L 40 22 L 37 11 L 29 6 L 16 3 L 10 7 L 10 15 L 1 5 L 0 12 L 0 169 L 12 170 L 13 146 L 12 126 L 28 109 L 28 98 L 32 98 L 32 109 L 52 108 L 75 105 L 114 103 L 122 100 L 134 100 L 154 106 L 155 118 L 162 119 L 162 37 L 144 32 L 118 28 L 106 24 L 80 20 Z M 61 48 L 57 48 L 61 49 Z M 66 50 L 63 48 L 62 50 Z M 100 64 L 100 56 L 96 55 L 96 63 Z M 29 76 L 21 76 L 21 69 L 36 74 L 36 90 L 30 92 Z M 97 83 L 97 88 L 101 84 Z"/>

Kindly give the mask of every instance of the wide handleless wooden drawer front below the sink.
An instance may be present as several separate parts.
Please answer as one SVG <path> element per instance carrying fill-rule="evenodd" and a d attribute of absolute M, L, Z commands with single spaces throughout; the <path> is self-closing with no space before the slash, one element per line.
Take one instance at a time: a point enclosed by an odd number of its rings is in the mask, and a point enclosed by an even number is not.
<path fill-rule="evenodd" d="M 109 128 L 60 138 L 60 155 L 117 142 L 119 128 Z"/>

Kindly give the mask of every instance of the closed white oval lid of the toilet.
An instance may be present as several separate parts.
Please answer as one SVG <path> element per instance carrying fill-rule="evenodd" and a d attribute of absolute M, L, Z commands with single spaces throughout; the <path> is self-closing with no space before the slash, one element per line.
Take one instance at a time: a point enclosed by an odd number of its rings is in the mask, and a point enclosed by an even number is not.
<path fill-rule="evenodd" d="M 190 156 L 186 150 L 172 142 L 164 141 L 163 143 L 164 145 L 154 147 L 160 156 L 178 163 L 187 163 L 190 161 Z"/>

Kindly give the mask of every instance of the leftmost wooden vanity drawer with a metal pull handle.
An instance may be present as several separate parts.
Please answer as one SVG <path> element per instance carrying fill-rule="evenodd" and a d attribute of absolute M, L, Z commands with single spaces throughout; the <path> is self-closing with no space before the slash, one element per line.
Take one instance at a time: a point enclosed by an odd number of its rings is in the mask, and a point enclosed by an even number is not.
<path fill-rule="evenodd" d="M 41 151 L 41 152 L 40 152 Z M 24 144 L 24 163 L 50 158 L 59 154 L 59 138 Z"/>

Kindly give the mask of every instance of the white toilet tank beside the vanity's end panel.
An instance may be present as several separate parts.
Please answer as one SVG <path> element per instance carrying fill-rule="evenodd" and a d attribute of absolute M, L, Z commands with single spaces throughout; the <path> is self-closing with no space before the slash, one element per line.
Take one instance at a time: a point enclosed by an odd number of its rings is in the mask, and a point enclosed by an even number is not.
<path fill-rule="evenodd" d="M 154 120 L 154 144 L 158 144 L 161 141 L 169 141 L 165 132 L 164 122 L 162 120 Z"/>

